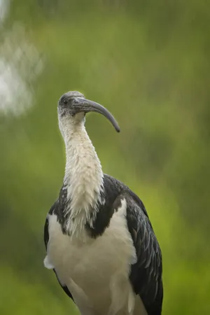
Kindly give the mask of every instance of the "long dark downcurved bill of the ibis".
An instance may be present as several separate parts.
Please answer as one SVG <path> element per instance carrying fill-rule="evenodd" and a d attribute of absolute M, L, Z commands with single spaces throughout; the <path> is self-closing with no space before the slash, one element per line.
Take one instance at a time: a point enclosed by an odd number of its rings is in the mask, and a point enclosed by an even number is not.
<path fill-rule="evenodd" d="M 74 105 L 74 109 L 76 110 L 76 113 L 79 113 L 81 111 L 83 111 L 84 113 L 89 113 L 90 111 L 95 111 L 96 113 L 101 113 L 111 122 L 113 127 L 115 127 L 116 131 L 120 132 L 120 127 L 119 127 L 116 119 L 101 104 L 98 104 L 96 102 L 92 102 L 89 99 L 83 99 L 82 97 L 81 98 L 77 97 L 76 98 L 76 104 Z"/>

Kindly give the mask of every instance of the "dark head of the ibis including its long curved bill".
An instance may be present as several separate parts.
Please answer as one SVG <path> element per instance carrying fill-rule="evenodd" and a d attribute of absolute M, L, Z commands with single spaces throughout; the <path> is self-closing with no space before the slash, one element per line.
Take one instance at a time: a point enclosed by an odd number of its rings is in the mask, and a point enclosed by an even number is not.
<path fill-rule="evenodd" d="M 120 132 L 120 127 L 116 122 L 116 119 L 111 115 L 111 113 L 105 109 L 104 106 L 92 102 L 89 99 L 85 99 L 84 95 L 80 92 L 66 92 L 60 97 L 58 102 L 58 119 L 59 128 L 64 133 L 64 128 L 68 125 L 77 126 L 85 123 L 85 114 L 90 111 L 95 111 L 104 115 L 113 127 L 115 127 L 117 132 Z"/>

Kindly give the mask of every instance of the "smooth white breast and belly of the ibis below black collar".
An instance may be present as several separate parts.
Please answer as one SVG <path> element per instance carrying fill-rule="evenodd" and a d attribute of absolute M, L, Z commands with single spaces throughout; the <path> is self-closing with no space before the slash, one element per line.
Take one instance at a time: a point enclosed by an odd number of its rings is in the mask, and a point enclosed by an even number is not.
<path fill-rule="evenodd" d="M 125 216 L 123 200 L 104 234 L 85 240 L 63 235 L 57 216 L 48 218 L 45 267 L 55 268 L 83 315 L 146 314 L 139 297 L 135 307 L 137 298 L 130 285 L 130 265 L 137 257 Z"/>

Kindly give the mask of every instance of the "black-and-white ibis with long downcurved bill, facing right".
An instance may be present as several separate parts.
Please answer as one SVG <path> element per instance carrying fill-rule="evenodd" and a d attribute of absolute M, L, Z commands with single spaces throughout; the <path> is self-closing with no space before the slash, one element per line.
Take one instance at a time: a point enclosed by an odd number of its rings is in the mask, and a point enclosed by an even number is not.
<path fill-rule="evenodd" d="M 162 314 L 162 252 L 143 202 L 104 174 L 85 130 L 86 114 L 101 104 L 77 91 L 59 98 L 66 151 L 64 179 L 44 225 L 44 265 L 55 272 L 81 315 Z"/>

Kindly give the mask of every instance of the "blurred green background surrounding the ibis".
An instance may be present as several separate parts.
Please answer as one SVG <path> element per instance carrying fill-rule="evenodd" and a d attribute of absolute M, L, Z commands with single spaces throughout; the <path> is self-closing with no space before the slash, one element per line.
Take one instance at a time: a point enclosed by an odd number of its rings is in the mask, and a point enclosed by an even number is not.
<path fill-rule="evenodd" d="M 210 4 L 0 0 L 0 313 L 78 314 L 43 267 L 64 175 L 57 100 L 90 114 L 104 172 L 141 197 L 162 248 L 163 315 L 210 314 Z"/>

